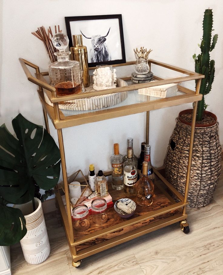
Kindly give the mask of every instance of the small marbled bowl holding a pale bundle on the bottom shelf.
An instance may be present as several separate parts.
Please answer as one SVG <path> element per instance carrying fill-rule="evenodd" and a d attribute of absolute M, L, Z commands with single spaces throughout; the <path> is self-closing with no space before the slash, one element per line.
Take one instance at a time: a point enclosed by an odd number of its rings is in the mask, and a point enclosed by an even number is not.
<path fill-rule="evenodd" d="M 114 209 L 121 218 L 129 218 L 135 213 L 136 204 L 128 198 L 118 199 L 114 204 Z"/>

